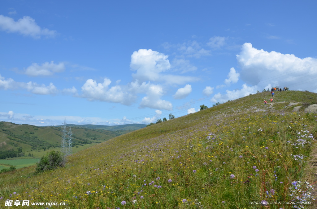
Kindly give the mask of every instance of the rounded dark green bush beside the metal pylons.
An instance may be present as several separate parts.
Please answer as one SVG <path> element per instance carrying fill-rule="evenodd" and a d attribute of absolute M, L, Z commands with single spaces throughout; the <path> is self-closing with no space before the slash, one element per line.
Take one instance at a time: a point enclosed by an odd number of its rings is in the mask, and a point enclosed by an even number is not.
<path fill-rule="evenodd" d="M 40 161 L 36 163 L 36 172 L 64 167 L 65 163 L 65 155 L 62 152 L 53 150 L 48 152 L 46 156 L 43 156 Z"/>

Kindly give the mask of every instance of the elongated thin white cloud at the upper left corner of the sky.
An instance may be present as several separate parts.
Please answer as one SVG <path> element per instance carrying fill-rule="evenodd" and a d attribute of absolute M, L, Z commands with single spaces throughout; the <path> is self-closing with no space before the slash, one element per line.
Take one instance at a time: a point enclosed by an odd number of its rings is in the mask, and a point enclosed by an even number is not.
<path fill-rule="evenodd" d="M 57 34 L 54 30 L 41 28 L 29 16 L 24 16 L 18 21 L 14 21 L 11 17 L 0 15 L 0 29 L 7 33 L 21 33 L 26 36 L 32 36 L 35 39 L 41 38 L 41 36 L 55 37 Z"/>

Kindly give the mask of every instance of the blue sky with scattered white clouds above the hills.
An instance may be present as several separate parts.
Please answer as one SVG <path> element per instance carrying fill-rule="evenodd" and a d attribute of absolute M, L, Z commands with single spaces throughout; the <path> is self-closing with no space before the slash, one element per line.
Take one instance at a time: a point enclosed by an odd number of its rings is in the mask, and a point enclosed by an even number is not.
<path fill-rule="evenodd" d="M 317 93 L 316 6 L 3 0 L 0 120 L 149 124 L 274 86 Z"/>

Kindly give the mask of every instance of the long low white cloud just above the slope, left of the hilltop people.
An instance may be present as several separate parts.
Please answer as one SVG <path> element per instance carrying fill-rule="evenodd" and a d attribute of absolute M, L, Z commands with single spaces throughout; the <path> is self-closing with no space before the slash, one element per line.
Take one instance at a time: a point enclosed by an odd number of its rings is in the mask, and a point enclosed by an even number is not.
<path fill-rule="evenodd" d="M 219 103 L 224 103 L 228 100 L 234 100 L 234 99 L 238 99 L 241 97 L 245 97 L 248 96 L 250 93 L 256 93 L 256 90 L 258 89 L 257 86 L 247 86 L 247 84 L 243 84 L 242 85 L 242 89 L 238 89 L 238 90 L 226 90 L 226 94 L 221 94 L 221 93 L 217 93 L 215 94 L 210 101 L 211 102 L 219 102 Z"/>

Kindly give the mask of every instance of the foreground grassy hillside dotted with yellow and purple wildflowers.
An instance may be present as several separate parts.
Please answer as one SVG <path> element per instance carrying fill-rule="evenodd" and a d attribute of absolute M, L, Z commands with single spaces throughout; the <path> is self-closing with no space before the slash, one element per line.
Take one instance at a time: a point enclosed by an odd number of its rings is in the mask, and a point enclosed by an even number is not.
<path fill-rule="evenodd" d="M 276 93 L 273 107 L 262 103 L 269 97 L 250 95 L 115 137 L 69 156 L 65 168 L 2 173 L 0 205 L 18 198 L 67 203 L 55 208 L 293 208 L 249 201 L 296 196 L 313 203 L 305 182 L 316 177 L 305 162 L 316 149 L 317 114 L 286 106 L 316 104 L 317 94 Z"/>

